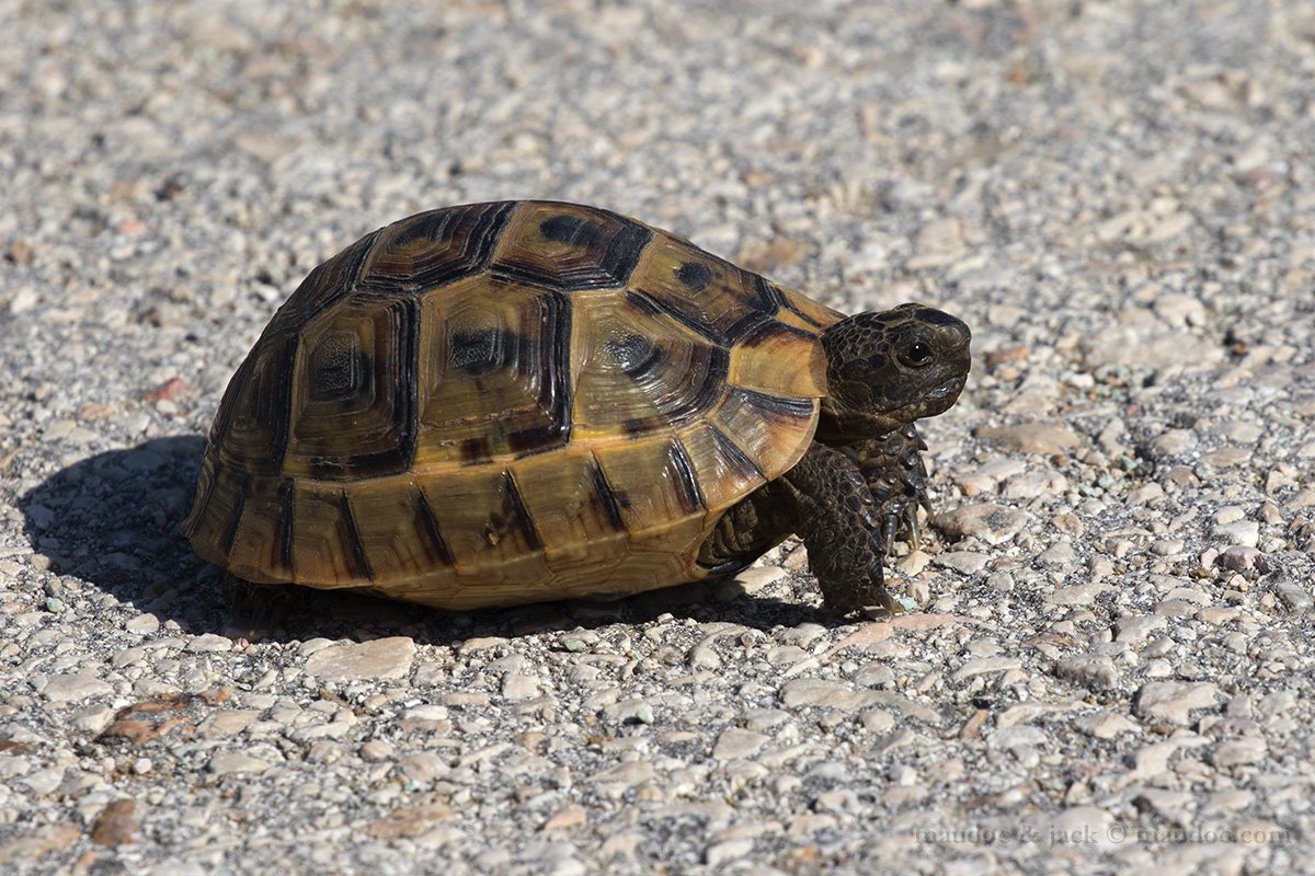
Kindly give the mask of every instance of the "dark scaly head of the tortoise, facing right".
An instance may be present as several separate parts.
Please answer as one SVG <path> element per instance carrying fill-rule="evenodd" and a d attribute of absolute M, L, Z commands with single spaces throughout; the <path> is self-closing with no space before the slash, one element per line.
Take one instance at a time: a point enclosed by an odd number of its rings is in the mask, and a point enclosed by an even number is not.
<path fill-rule="evenodd" d="M 822 335 L 827 397 L 818 439 L 878 437 L 948 410 L 968 378 L 970 340 L 963 320 L 917 303 L 835 323 Z"/>

